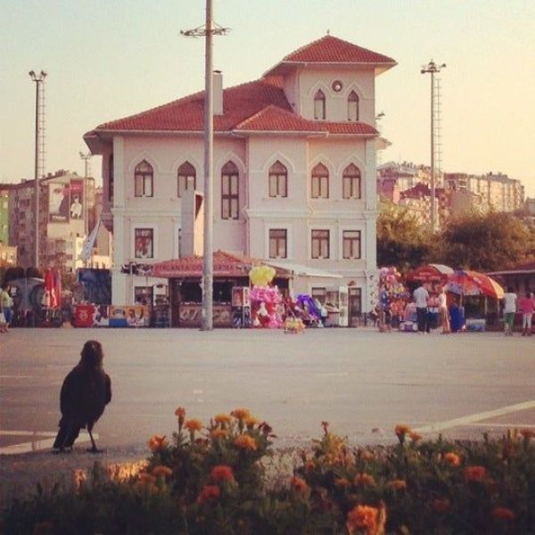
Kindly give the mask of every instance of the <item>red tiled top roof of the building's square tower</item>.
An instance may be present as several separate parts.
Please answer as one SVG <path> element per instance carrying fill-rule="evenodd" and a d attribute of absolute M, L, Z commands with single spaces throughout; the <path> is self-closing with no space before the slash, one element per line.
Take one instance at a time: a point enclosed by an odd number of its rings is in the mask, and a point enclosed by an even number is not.
<path fill-rule="evenodd" d="M 325 36 L 309 45 L 301 46 L 284 57 L 283 62 L 306 63 L 391 63 L 396 62 L 362 46 L 353 45 L 338 37 Z"/>

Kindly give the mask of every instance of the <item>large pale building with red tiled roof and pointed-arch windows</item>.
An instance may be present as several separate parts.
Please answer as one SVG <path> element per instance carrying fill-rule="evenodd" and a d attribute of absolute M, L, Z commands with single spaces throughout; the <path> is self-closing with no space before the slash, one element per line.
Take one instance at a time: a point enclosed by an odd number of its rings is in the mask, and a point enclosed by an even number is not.
<path fill-rule="evenodd" d="M 214 95 L 214 249 L 321 269 L 369 309 L 375 261 L 375 77 L 396 64 L 325 36 L 262 78 Z M 129 262 L 179 257 L 181 196 L 202 191 L 203 92 L 107 122 L 84 139 L 103 155 L 103 222 L 113 232 L 112 300 L 161 280 Z M 191 181 L 191 182 L 188 182 Z M 314 269 L 311 269 L 314 272 Z M 300 292 L 325 286 L 307 276 Z"/>

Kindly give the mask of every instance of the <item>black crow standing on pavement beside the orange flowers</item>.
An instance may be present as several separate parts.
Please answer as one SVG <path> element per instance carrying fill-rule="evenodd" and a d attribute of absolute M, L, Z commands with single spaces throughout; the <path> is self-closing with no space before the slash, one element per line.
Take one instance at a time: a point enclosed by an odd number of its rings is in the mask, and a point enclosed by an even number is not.
<path fill-rule="evenodd" d="M 89 340 L 84 344 L 78 365 L 72 368 L 62 384 L 62 419 L 53 442 L 56 453 L 72 449 L 84 428 L 87 428 L 93 446 L 89 451 L 98 453 L 91 432 L 110 401 L 111 379 L 103 370 L 103 346 L 100 342 Z"/>

